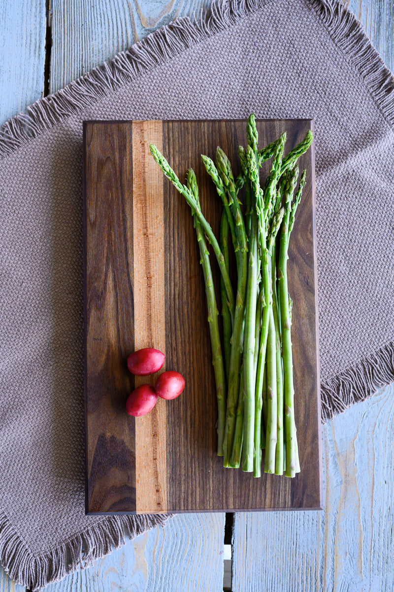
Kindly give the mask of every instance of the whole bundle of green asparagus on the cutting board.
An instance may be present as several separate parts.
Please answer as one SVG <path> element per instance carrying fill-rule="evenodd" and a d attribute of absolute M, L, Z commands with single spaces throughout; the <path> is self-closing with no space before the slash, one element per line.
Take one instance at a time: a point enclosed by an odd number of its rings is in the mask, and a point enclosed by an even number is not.
<path fill-rule="evenodd" d="M 304 171 L 295 192 L 297 160 L 311 146 L 312 132 L 308 131 L 286 157 L 286 134 L 258 148 L 253 114 L 248 118 L 247 136 L 246 148 L 238 148 L 241 172 L 236 178 L 219 147 L 214 160 L 201 155 L 223 203 L 219 241 L 201 212 L 193 169 L 188 170 L 184 185 L 153 144 L 150 149 L 190 206 L 197 233 L 216 381 L 217 454 L 223 456 L 223 466 L 238 468 L 242 459 L 243 471 L 259 477 L 264 449 L 265 472 L 294 477 L 299 472 L 299 458 L 287 260 L 305 185 Z M 269 159 L 271 171 L 261 184 L 260 167 Z M 244 200 L 240 199 L 241 191 Z M 209 244 L 220 271 L 222 337 Z M 237 268 L 235 286 L 230 281 L 231 247 Z"/>

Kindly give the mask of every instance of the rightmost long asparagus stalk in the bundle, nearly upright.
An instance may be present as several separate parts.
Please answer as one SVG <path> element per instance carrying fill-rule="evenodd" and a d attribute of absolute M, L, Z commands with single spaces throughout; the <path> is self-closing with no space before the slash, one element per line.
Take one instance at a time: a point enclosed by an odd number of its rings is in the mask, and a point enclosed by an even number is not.
<path fill-rule="evenodd" d="M 287 282 L 287 260 L 289 246 L 289 228 L 294 224 L 294 212 L 291 215 L 291 202 L 297 182 L 297 170 L 289 172 L 285 189 L 285 217 L 282 223 L 281 240 L 279 247 L 278 263 L 278 288 L 281 307 L 281 335 L 282 335 L 282 359 L 284 369 L 284 408 L 285 408 L 285 429 L 286 429 L 286 477 L 294 477 L 297 470 L 296 460 L 296 431 L 294 420 L 294 383 L 291 347 L 291 314 L 289 310 L 288 282 Z M 294 205 L 301 200 L 302 187 L 305 184 L 305 171 L 302 173 L 299 188 L 295 197 Z M 296 206 L 297 207 L 297 206 Z"/>

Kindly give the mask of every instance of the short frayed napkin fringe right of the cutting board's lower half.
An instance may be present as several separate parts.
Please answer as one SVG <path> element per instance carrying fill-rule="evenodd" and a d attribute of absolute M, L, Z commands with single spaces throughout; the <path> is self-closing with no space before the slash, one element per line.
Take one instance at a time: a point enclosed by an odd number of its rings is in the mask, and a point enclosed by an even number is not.
<path fill-rule="evenodd" d="M 386 343 L 321 384 L 321 421 L 333 419 L 354 403 L 372 397 L 380 387 L 394 382 L 394 343 Z"/>

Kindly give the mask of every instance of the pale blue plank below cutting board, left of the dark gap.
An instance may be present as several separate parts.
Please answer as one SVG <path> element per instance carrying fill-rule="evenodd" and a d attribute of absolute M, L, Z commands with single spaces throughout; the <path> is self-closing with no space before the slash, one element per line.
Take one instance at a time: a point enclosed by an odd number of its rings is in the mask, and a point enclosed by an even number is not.
<path fill-rule="evenodd" d="M 174 516 L 45 592 L 222 592 L 223 532 L 224 514 Z"/>

